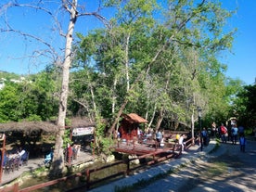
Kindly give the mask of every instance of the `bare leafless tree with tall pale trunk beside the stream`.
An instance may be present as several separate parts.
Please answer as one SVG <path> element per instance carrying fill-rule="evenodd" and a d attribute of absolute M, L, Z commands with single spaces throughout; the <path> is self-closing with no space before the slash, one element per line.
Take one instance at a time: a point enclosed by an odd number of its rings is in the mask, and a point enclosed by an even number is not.
<path fill-rule="evenodd" d="M 15 7 L 22 7 L 24 9 L 34 9 L 40 13 L 44 13 L 48 17 L 50 17 L 54 23 L 55 23 L 55 29 L 58 30 L 59 35 L 64 38 L 65 45 L 64 45 L 64 53 L 59 54 L 57 49 L 55 48 L 55 45 L 51 45 L 48 41 L 50 37 L 47 38 L 41 38 L 38 36 L 37 33 L 30 33 L 30 32 L 22 32 L 19 29 L 15 29 L 11 26 L 11 24 L 6 20 L 6 28 L 2 28 L 1 32 L 15 32 L 24 37 L 25 39 L 29 39 L 32 41 L 36 41 L 37 43 L 41 43 L 46 47 L 46 51 L 38 50 L 33 51 L 33 57 L 36 56 L 44 56 L 47 58 L 53 58 L 52 63 L 58 65 L 61 68 L 61 91 L 59 96 L 59 107 L 58 107 L 58 133 L 56 135 L 56 145 L 55 145 L 55 151 L 54 151 L 54 161 L 52 170 L 54 174 L 62 173 L 64 170 L 64 157 L 63 157 L 63 135 L 65 130 L 65 119 L 66 119 L 66 112 L 67 112 L 67 100 L 69 95 L 69 81 L 70 81 L 70 67 L 71 62 L 73 59 L 73 53 L 72 53 L 72 43 L 74 40 L 74 27 L 76 24 L 76 21 L 79 17 L 83 16 L 95 16 L 97 19 L 100 19 L 102 21 L 105 20 L 104 17 L 101 17 L 98 14 L 97 9 L 95 12 L 85 12 L 82 6 L 78 6 L 77 0 L 72 1 L 66 1 L 63 0 L 60 4 L 54 4 L 54 2 L 51 2 L 51 5 L 48 6 L 48 2 L 45 1 L 34 1 L 29 4 L 21 4 L 17 1 L 15 2 L 8 2 L 4 5 L 1 5 L 1 15 L 6 16 L 7 10 Z M 54 14 L 54 11 L 58 11 L 58 7 L 62 10 L 64 10 L 62 13 L 67 16 L 69 19 L 67 22 L 62 23 L 63 25 L 67 25 L 67 30 L 63 30 L 61 19 L 58 18 L 58 14 Z M 5 12 L 5 14 L 3 14 Z M 67 18 L 63 18 L 64 20 Z M 38 55 L 37 55 L 38 54 Z M 63 57 L 63 58 L 62 58 Z"/>

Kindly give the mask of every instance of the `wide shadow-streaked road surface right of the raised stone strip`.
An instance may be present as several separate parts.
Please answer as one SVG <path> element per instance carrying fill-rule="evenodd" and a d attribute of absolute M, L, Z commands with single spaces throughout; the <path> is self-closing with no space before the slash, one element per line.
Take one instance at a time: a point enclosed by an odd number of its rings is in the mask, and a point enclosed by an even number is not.
<path fill-rule="evenodd" d="M 215 152 L 138 191 L 250 192 L 256 188 L 255 168 L 256 141 L 248 141 L 245 153 L 239 145 L 221 144 Z"/>

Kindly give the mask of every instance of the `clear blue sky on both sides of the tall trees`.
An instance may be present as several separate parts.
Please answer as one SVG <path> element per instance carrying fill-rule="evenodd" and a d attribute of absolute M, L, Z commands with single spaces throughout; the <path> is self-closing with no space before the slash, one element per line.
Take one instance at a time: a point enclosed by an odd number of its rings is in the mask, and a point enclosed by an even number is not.
<path fill-rule="evenodd" d="M 2 1 L 2 0 L 1 0 Z M 7 0 L 3 0 L 7 1 Z M 88 0 L 93 2 L 94 0 Z M 88 2 L 86 1 L 86 2 Z M 26 2 L 26 1 L 23 1 Z M 27 1 L 30 2 L 30 1 Z M 228 10 L 234 10 L 237 7 L 237 13 L 228 19 L 227 28 L 237 28 L 237 33 L 233 42 L 232 52 L 224 52 L 221 62 L 227 65 L 226 76 L 232 79 L 239 79 L 246 84 L 255 83 L 256 78 L 256 1 L 255 0 L 221 0 L 223 7 Z M 88 6 L 86 6 L 88 8 Z M 89 6 L 90 8 L 91 6 Z M 19 8 L 13 9 L 6 19 L 14 26 L 30 32 L 36 29 L 36 34 L 45 34 L 47 32 L 48 42 L 55 45 L 63 45 L 63 39 L 59 39 L 58 34 L 49 29 L 50 21 L 45 22 L 39 12 L 20 12 Z M 1 11 L 0 11 L 0 14 Z M 32 17 L 31 17 L 32 14 Z M 61 13 L 60 13 L 61 14 Z M 105 15 L 108 12 L 105 12 Z M 29 17 L 30 16 L 30 17 Z M 0 27 L 5 25 L 3 18 L 0 18 Z M 36 20 L 35 20 L 36 19 Z M 92 18 L 89 18 L 92 19 Z M 79 23 L 79 22 L 77 22 Z M 88 21 L 87 23 L 92 23 Z M 76 28 L 83 29 L 86 32 L 94 27 L 100 26 L 96 20 L 93 25 L 78 25 Z M 53 45 L 54 45 L 53 44 Z M 34 73 L 44 70 L 47 59 L 41 58 L 41 64 L 35 58 L 26 58 L 33 50 L 41 50 L 41 53 L 34 52 L 38 56 L 45 52 L 39 44 L 24 41 L 11 32 L 0 33 L 0 70 L 15 72 L 18 74 Z M 44 60 L 45 59 L 45 60 Z M 30 63 L 30 65 L 27 65 Z"/>

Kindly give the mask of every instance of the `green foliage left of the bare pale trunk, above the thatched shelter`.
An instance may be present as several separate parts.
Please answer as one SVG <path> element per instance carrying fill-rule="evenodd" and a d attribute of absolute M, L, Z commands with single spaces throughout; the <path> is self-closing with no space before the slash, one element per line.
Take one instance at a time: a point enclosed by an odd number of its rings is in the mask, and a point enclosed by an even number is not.
<path fill-rule="evenodd" d="M 5 81 L 0 90 L 0 122 L 46 121 L 58 112 L 54 71 L 41 72 L 17 83 Z"/>

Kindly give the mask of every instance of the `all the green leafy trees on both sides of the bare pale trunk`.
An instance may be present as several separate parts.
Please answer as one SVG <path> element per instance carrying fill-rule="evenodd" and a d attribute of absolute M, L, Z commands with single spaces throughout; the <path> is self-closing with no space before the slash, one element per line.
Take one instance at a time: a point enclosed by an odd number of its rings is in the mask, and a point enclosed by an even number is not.
<path fill-rule="evenodd" d="M 226 66 L 218 61 L 232 47 L 236 29 L 224 31 L 232 12 L 212 1 L 103 3 L 113 8 L 109 28 L 77 33 L 67 111 L 69 117 L 96 120 L 99 152 L 108 153 L 110 142 L 107 125 L 99 120 L 113 122 L 126 100 L 123 112 L 147 114 L 153 123 L 163 114 L 166 122 L 189 124 L 195 106 L 203 109 L 208 125 L 225 121 L 235 109 L 240 117 L 246 114 L 249 101 L 236 96 L 240 82 L 227 79 Z M 0 91 L 0 122 L 55 117 L 59 74 L 47 66 L 26 82 L 7 82 Z"/>

